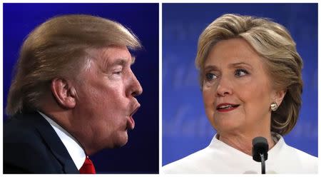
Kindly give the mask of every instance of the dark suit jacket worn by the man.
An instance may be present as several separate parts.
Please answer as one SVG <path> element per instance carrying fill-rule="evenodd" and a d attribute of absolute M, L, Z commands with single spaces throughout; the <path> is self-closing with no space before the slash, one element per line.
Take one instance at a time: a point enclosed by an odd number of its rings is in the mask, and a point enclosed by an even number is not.
<path fill-rule="evenodd" d="M 54 128 L 38 112 L 4 123 L 4 173 L 79 173 Z"/>

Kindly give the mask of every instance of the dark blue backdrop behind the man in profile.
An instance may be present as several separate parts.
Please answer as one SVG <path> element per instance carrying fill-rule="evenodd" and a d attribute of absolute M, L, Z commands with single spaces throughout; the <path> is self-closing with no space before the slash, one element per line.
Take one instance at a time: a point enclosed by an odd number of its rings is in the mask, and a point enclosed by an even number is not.
<path fill-rule="evenodd" d="M 36 26 L 61 14 L 115 20 L 141 39 L 144 49 L 132 66 L 143 87 L 136 128 L 128 133 L 126 146 L 91 158 L 98 173 L 158 173 L 158 4 L 4 4 L 4 108 L 22 42 Z"/>

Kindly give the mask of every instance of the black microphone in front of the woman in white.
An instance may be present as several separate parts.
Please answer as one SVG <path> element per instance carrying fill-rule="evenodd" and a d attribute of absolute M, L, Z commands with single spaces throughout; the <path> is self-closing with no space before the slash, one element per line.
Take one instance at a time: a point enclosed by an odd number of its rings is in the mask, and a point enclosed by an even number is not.
<path fill-rule="evenodd" d="M 262 174 L 265 174 L 265 161 L 267 160 L 267 151 L 269 145 L 266 138 L 258 136 L 252 141 L 252 156 L 254 161 L 261 162 Z"/>

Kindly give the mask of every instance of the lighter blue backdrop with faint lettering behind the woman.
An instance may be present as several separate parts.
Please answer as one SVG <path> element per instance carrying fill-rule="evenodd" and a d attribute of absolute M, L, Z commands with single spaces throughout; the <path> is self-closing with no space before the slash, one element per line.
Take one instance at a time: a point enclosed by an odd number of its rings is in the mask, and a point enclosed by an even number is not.
<path fill-rule="evenodd" d="M 163 4 L 163 165 L 205 148 L 215 134 L 194 59 L 203 29 L 227 13 L 267 17 L 290 31 L 304 61 L 304 89 L 285 141 L 317 156 L 317 4 Z"/>

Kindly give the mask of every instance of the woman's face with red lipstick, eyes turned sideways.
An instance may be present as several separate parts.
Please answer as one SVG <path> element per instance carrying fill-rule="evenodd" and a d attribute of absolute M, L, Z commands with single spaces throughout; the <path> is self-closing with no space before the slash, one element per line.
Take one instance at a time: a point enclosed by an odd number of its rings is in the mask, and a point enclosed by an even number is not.
<path fill-rule="evenodd" d="M 270 103 L 277 93 L 263 58 L 247 41 L 219 41 L 204 66 L 205 111 L 218 133 L 270 131 Z"/>

